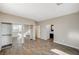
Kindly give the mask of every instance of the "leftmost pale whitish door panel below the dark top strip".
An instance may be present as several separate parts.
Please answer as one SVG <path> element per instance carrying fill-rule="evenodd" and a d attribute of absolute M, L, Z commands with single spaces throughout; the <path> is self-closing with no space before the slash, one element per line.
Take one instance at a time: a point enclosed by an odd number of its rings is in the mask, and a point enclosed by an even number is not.
<path fill-rule="evenodd" d="M 12 26 L 10 23 L 1 23 L 2 46 L 12 43 L 11 31 Z"/>

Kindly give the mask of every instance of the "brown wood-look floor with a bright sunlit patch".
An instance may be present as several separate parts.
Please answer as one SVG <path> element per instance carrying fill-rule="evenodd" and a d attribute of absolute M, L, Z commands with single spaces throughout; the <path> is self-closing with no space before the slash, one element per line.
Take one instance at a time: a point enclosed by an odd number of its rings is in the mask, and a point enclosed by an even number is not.
<path fill-rule="evenodd" d="M 79 55 L 79 51 L 51 40 L 26 40 L 21 44 L 15 39 L 12 47 L 2 50 L 0 55 Z"/>

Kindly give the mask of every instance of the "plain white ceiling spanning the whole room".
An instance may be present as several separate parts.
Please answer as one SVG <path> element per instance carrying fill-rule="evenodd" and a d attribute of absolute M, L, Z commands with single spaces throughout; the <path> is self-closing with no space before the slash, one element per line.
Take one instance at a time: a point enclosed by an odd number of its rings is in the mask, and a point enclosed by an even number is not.
<path fill-rule="evenodd" d="M 78 3 L 0 3 L 0 11 L 35 21 L 55 18 L 79 11 Z"/>

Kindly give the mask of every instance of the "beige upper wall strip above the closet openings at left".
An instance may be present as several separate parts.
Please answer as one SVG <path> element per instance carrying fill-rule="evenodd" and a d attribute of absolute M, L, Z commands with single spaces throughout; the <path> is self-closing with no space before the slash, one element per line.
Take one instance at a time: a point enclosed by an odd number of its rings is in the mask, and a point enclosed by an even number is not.
<path fill-rule="evenodd" d="M 14 16 L 14 15 L 2 13 L 2 12 L 0 12 L 0 22 L 35 25 L 35 21 L 33 21 L 32 19 Z"/>

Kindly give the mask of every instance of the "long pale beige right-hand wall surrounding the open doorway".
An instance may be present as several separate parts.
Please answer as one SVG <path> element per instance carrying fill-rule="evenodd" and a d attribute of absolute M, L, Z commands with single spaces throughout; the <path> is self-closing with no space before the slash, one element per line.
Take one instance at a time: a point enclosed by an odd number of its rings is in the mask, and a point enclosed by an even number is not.
<path fill-rule="evenodd" d="M 46 25 L 54 25 L 54 41 L 79 49 L 79 12 L 49 19 L 39 23 L 41 26 L 41 38 L 48 38 L 49 27 Z M 48 33 L 47 33 L 48 32 Z"/>

